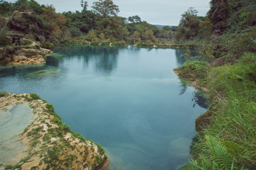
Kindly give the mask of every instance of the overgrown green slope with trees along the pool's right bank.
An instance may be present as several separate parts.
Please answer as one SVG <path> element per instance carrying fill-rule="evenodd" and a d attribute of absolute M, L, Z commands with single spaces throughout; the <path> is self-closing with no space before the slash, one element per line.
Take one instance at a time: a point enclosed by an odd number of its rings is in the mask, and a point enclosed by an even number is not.
<path fill-rule="evenodd" d="M 200 44 L 201 61 L 176 69 L 206 87 L 210 100 L 196 120 L 193 159 L 181 169 L 256 169 L 256 1 L 212 0 L 210 6 L 188 39 Z"/>

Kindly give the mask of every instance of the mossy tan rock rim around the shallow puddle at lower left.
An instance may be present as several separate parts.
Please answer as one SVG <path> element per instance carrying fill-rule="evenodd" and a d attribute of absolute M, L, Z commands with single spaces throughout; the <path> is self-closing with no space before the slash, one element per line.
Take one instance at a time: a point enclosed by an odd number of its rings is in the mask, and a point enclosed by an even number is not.
<path fill-rule="evenodd" d="M 33 108 L 33 123 L 19 136 L 26 149 L 17 154 L 15 165 L 0 169 L 107 169 L 109 159 L 98 144 L 85 140 L 62 123 L 52 105 L 32 94 L 5 94 L 0 110 L 26 103 Z"/>

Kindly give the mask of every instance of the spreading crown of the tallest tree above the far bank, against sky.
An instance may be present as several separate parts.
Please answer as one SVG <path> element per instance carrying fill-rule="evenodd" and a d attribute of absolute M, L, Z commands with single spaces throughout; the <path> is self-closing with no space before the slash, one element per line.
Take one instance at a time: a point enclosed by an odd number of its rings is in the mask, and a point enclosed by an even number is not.
<path fill-rule="evenodd" d="M 99 0 L 94 2 L 93 5 L 92 8 L 95 13 L 99 13 L 103 18 L 106 18 L 107 16 L 117 16 L 117 13 L 119 12 L 118 6 L 115 5 L 112 0 Z"/>

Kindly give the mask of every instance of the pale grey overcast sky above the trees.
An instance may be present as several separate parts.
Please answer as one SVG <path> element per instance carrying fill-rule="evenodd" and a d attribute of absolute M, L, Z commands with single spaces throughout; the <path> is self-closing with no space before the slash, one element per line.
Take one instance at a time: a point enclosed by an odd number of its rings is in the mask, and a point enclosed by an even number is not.
<path fill-rule="evenodd" d="M 8 1 L 8 0 L 6 0 Z M 56 9 L 56 12 L 63 11 L 81 11 L 81 0 L 36 0 L 39 4 L 50 5 Z M 86 0 L 85 0 L 86 1 Z M 92 2 L 96 0 L 87 0 L 89 9 Z M 118 16 L 129 17 L 139 16 L 142 21 L 151 24 L 165 26 L 178 26 L 181 14 L 189 7 L 195 7 L 198 16 L 206 16 L 209 10 L 210 0 L 113 0 L 114 4 L 119 6 Z M 9 0 L 15 2 L 15 0 Z"/>

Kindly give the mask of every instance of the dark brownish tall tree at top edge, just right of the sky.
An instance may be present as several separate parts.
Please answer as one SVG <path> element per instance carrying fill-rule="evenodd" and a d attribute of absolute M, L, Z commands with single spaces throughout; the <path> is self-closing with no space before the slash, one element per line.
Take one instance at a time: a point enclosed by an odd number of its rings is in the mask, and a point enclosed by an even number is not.
<path fill-rule="evenodd" d="M 228 0 L 211 0 L 208 16 L 213 24 L 213 35 L 220 35 L 226 28 L 228 18 Z"/>

